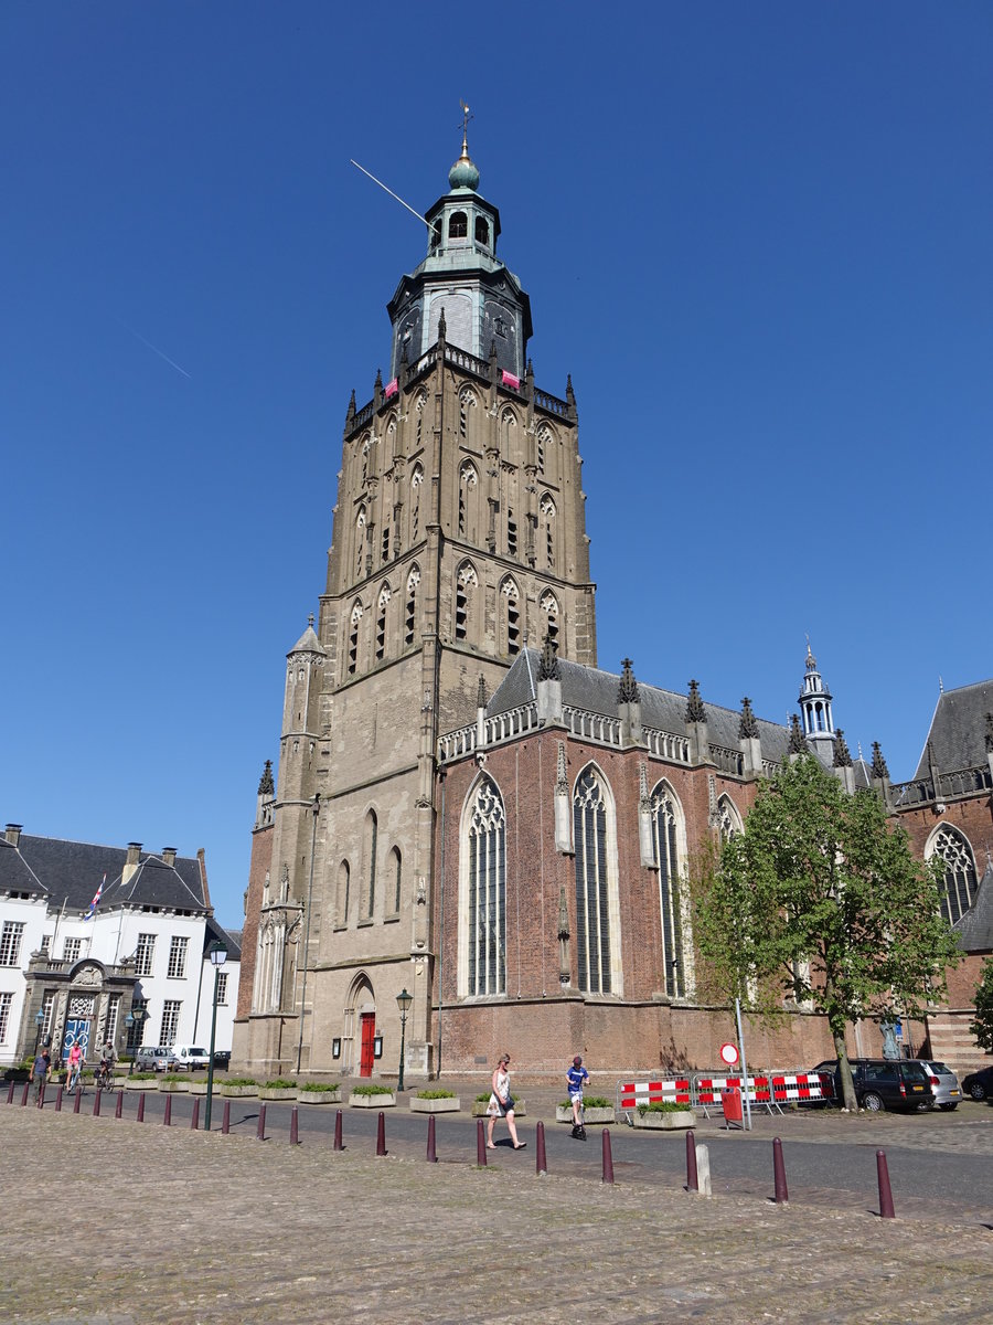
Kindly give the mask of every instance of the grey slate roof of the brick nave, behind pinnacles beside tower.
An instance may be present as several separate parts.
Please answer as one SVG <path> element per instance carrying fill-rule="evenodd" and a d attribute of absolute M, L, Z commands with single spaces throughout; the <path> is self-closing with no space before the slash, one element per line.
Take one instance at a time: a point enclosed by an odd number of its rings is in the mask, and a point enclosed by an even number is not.
<path fill-rule="evenodd" d="M 536 649 L 522 649 L 487 704 L 487 717 L 495 717 L 531 702 L 538 685 L 539 659 L 540 653 Z M 617 686 L 621 680 L 618 672 L 601 672 L 598 668 L 569 662 L 565 659 L 559 659 L 559 672 L 563 704 L 605 717 L 617 717 Z M 685 694 L 662 690 L 658 686 L 646 685 L 641 680 L 638 680 L 638 694 L 643 726 L 671 731 L 673 735 L 688 734 Z M 737 750 L 740 710 L 711 704 L 706 696 L 702 698 L 707 708 L 707 735 L 711 743 Z M 765 718 L 757 721 L 764 758 L 781 762 L 788 754 L 789 729 L 779 722 L 768 722 Z"/>

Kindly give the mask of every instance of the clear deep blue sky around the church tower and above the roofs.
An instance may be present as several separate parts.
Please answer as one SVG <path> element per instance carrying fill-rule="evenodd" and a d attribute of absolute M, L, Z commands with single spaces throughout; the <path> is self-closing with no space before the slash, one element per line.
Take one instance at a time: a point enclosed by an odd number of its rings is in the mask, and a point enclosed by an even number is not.
<path fill-rule="evenodd" d="M 0 819 L 207 849 L 241 922 L 348 395 L 459 97 L 539 387 L 576 388 L 601 666 L 785 721 L 809 632 L 914 774 L 989 677 L 993 8 L 0 9 Z"/>

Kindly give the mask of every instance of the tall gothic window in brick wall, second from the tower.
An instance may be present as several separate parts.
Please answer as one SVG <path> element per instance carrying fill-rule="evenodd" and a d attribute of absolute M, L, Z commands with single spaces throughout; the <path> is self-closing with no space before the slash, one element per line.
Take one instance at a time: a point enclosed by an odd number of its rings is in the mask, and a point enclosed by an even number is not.
<path fill-rule="evenodd" d="M 594 768 L 584 768 L 572 799 L 576 845 L 576 958 L 579 987 L 587 994 L 612 990 L 612 924 L 608 802 Z"/>

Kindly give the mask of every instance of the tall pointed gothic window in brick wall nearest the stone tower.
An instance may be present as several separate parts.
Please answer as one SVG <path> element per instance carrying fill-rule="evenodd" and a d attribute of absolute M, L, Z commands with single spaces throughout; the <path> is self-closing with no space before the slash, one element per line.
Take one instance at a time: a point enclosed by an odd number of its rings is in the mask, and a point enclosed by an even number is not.
<path fill-rule="evenodd" d="M 483 778 L 469 807 L 467 992 L 504 994 L 507 988 L 507 824 L 496 784 Z"/>

